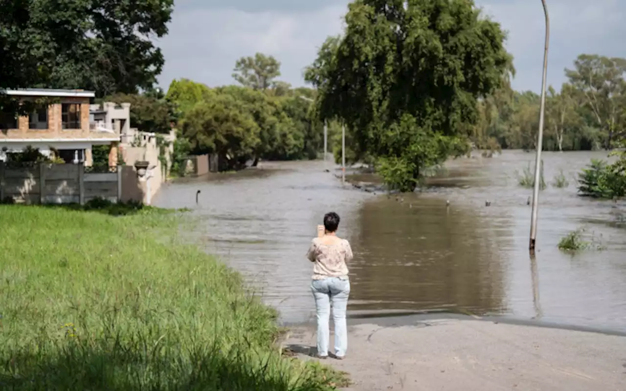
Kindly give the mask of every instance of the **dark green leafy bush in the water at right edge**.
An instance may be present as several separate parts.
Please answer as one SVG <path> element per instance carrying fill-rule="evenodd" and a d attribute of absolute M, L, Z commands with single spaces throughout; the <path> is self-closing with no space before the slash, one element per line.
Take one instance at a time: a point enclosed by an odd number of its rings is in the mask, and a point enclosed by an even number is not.
<path fill-rule="evenodd" d="M 623 162 L 613 165 L 604 160 L 592 159 L 578 174 L 578 192 L 582 196 L 613 199 L 626 196 L 626 172 Z"/>

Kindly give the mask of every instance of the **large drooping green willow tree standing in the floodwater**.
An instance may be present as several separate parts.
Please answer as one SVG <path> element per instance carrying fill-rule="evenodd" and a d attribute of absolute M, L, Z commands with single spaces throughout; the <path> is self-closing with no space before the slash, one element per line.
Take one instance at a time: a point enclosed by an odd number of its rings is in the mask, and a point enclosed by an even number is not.
<path fill-rule="evenodd" d="M 471 0 L 356 0 L 305 77 L 320 117 L 344 121 L 356 156 L 410 191 L 424 168 L 466 150 L 476 103 L 511 70 L 505 36 Z"/>

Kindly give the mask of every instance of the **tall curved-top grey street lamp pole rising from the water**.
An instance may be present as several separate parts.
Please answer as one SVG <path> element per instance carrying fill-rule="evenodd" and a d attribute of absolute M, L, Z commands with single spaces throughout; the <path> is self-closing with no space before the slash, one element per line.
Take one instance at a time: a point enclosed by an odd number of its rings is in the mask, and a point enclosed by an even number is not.
<path fill-rule="evenodd" d="M 533 187 L 533 211 L 530 217 L 530 254 L 535 254 L 535 241 L 537 236 L 537 208 L 539 201 L 539 185 L 541 180 L 541 150 L 543 149 L 543 119 L 546 106 L 546 73 L 548 71 L 548 43 L 550 41 L 550 18 L 546 0 L 541 0 L 543 13 L 546 18 L 546 41 L 543 49 L 543 78 L 541 80 L 541 106 L 539 109 L 539 132 L 537 132 L 537 153 L 535 159 L 535 186 Z"/>

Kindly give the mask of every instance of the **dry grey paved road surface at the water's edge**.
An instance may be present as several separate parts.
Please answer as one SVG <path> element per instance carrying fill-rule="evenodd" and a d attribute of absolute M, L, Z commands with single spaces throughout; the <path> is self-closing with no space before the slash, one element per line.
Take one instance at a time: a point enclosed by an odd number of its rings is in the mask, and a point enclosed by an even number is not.
<path fill-rule="evenodd" d="M 351 374 L 350 390 L 626 389 L 623 336 L 449 318 L 349 335 L 346 360 L 324 363 Z M 292 328 L 285 345 L 309 359 L 314 327 Z"/>

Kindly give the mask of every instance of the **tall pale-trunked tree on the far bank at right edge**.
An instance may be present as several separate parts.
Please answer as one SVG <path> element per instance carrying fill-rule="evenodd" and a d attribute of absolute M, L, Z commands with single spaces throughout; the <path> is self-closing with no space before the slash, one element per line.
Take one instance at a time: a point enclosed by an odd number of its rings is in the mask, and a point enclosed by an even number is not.
<path fill-rule="evenodd" d="M 570 83 L 582 91 L 585 105 L 592 112 L 595 125 L 605 133 L 604 148 L 611 149 L 618 128 L 626 92 L 626 59 L 598 55 L 580 55 L 574 69 L 565 70 Z"/>

